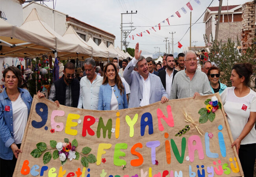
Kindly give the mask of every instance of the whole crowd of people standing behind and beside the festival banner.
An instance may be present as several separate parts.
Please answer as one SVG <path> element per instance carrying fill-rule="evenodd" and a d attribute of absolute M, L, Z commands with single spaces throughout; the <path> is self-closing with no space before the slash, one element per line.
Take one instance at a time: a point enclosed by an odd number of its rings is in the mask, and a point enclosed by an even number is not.
<path fill-rule="evenodd" d="M 245 177 L 252 176 L 256 158 L 256 92 L 249 88 L 252 65 L 235 64 L 230 77 L 232 87 L 226 87 L 219 79 L 219 68 L 211 66 L 208 54 L 203 50 L 202 53 L 203 58 L 193 51 L 179 53 L 177 60 L 172 54 L 165 54 L 161 64 L 143 57 L 137 43 L 134 58 L 122 60 L 122 68 L 117 58 L 102 71 L 92 58 L 85 59 L 84 71 L 68 62 L 63 76 L 52 84 L 48 100 L 58 107 L 119 110 L 219 92 L 234 138 L 232 147 L 236 146 Z M 0 94 L 0 158 L 1 176 L 5 177 L 8 175 L 4 171 L 14 170 L 22 152 L 20 143 L 32 98 L 28 91 L 19 88 L 22 74 L 18 68 L 6 68 L 3 76 L 6 89 Z M 40 92 L 37 96 L 44 97 Z M 23 113 L 18 114 L 21 110 Z"/>

